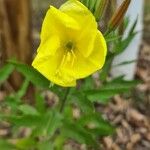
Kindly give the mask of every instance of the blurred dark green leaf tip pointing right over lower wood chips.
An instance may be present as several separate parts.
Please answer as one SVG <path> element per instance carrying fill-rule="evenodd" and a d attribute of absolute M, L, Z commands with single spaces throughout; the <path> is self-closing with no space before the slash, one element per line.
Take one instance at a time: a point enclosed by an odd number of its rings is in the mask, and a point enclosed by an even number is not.
<path fill-rule="evenodd" d="M 90 133 L 99 136 L 108 136 L 114 133 L 114 127 L 110 123 L 104 120 L 98 113 L 90 113 L 82 116 L 78 124 L 86 126 Z"/>

